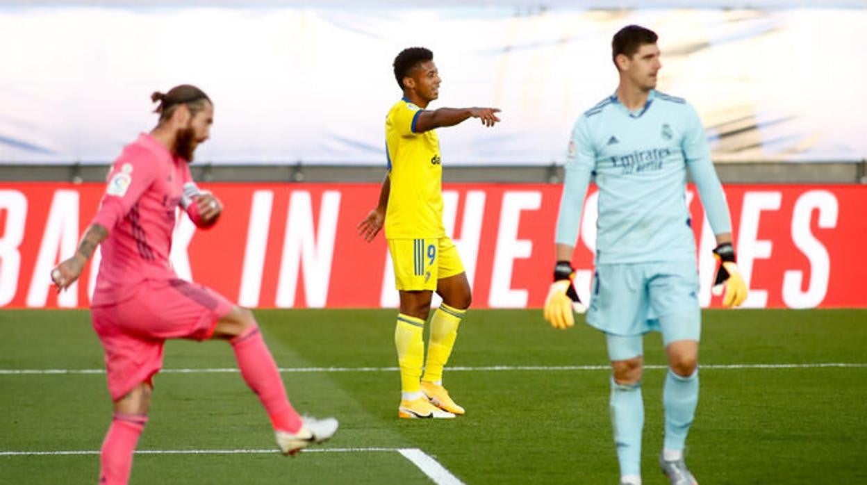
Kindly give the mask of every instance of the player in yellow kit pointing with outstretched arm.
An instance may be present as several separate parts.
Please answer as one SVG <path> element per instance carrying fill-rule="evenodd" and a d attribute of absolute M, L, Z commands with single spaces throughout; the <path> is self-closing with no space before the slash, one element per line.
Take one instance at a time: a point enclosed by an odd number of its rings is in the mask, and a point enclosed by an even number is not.
<path fill-rule="evenodd" d="M 435 128 L 478 118 L 487 127 L 499 121 L 497 108 L 438 108 L 440 75 L 433 53 L 404 49 L 394 59 L 394 78 L 403 91 L 385 123 L 388 175 L 378 206 L 358 225 L 368 241 L 384 226 L 401 311 L 394 344 L 401 366 L 398 416 L 447 418 L 464 414 L 442 385 L 458 326 L 471 301 L 471 289 L 454 243 L 442 224 L 442 165 Z M 433 292 L 442 305 L 433 312 L 430 341 L 422 340 Z M 422 375 L 422 364 L 424 375 Z"/>

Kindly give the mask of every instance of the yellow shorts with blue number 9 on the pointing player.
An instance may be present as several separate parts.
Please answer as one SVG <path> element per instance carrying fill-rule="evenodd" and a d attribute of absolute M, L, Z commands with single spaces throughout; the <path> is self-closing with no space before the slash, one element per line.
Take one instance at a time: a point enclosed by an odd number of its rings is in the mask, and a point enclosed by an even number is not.
<path fill-rule="evenodd" d="M 414 292 L 436 290 L 437 280 L 464 272 L 452 239 L 388 239 L 394 285 Z"/>

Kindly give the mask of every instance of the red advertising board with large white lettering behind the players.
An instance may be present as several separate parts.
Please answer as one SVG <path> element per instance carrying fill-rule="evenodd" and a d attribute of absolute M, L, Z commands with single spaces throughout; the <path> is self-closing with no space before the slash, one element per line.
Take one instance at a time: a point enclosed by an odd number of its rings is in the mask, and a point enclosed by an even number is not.
<path fill-rule="evenodd" d="M 375 205 L 378 184 L 202 184 L 225 204 L 210 230 L 179 217 L 173 265 L 181 278 L 212 286 L 251 307 L 397 305 L 388 249 L 356 225 Z M 87 307 L 95 274 L 60 295 L 50 269 L 75 252 L 102 184 L 0 184 L 0 307 Z M 539 307 L 554 255 L 560 185 L 446 184 L 444 220 L 473 284 L 473 307 Z M 867 187 L 731 185 L 746 307 L 867 307 L 860 251 L 867 237 Z M 699 248 L 701 304 L 717 307 L 710 280 L 714 237 L 688 188 Z M 861 215 L 859 215 L 861 214 Z M 585 201 L 575 264 L 589 298 L 596 191 Z M 95 257 L 95 261 L 98 255 Z"/>

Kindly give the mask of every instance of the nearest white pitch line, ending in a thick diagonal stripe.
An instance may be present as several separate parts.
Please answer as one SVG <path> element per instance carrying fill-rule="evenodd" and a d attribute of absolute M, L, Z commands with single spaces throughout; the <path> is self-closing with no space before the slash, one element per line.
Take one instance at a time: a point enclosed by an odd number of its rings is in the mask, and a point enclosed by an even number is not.
<path fill-rule="evenodd" d="M 437 485 L 464 485 L 440 462 L 419 448 L 322 448 L 302 449 L 302 453 L 396 452 L 413 463 Z M 0 451 L 0 456 L 81 456 L 99 455 L 98 449 L 55 451 Z M 277 449 L 137 449 L 136 455 L 277 455 Z"/>

